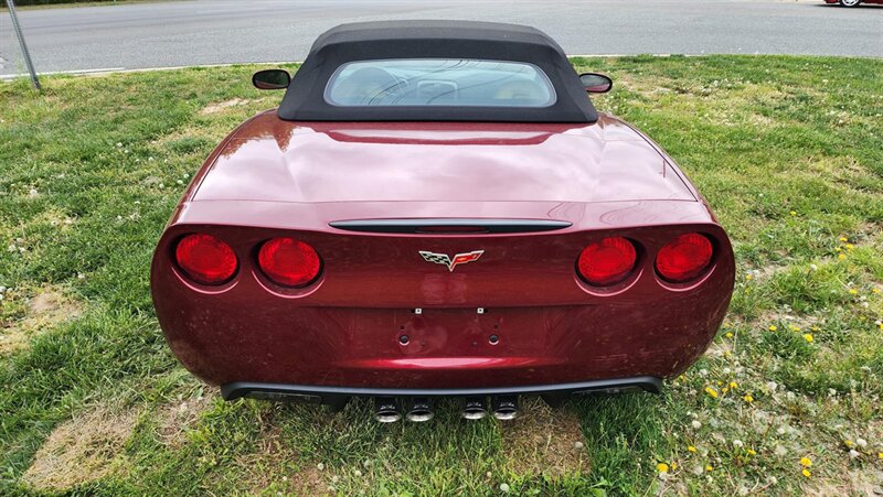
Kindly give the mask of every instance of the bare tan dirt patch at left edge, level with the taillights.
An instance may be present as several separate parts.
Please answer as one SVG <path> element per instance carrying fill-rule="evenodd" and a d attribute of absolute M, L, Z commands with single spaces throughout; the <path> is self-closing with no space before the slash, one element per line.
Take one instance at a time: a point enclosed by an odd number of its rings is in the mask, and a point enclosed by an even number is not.
<path fill-rule="evenodd" d="M 61 289 L 43 288 L 31 299 L 23 318 L 0 328 L 0 355 L 21 349 L 34 333 L 72 320 L 82 312 L 81 303 L 65 295 Z"/>

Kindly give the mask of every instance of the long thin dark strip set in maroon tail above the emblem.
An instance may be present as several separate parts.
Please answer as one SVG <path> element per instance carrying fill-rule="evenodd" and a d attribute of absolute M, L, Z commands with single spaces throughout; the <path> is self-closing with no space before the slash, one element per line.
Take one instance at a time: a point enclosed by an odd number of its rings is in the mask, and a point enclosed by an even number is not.
<path fill-rule="evenodd" d="M 480 218 L 411 218 L 333 220 L 332 228 L 362 233 L 397 233 L 424 235 L 501 234 L 554 231 L 570 228 L 573 223 L 555 219 L 480 219 Z M 433 228 L 450 228 L 434 231 Z M 457 231 L 456 228 L 464 228 Z"/>

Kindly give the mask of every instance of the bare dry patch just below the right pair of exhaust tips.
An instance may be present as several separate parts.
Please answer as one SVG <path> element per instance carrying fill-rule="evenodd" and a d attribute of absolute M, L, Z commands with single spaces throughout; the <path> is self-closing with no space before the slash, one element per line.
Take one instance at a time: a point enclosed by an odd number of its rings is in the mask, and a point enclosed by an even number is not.
<path fill-rule="evenodd" d="M 525 399 L 521 418 L 502 423 L 503 452 L 517 474 L 560 477 L 588 469 L 579 419 L 567 408 Z"/>

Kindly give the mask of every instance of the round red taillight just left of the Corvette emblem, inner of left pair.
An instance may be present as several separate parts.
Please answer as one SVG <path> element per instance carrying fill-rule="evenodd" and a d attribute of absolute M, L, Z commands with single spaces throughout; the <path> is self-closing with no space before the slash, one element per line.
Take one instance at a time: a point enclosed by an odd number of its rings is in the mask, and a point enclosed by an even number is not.
<path fill-rule="evenodd" d="M 257 262 L 267 278 L 284 287 L 309 284 L 322 269 L 316 250 L 294 238 L 268 240 L 260 247 Z"/>

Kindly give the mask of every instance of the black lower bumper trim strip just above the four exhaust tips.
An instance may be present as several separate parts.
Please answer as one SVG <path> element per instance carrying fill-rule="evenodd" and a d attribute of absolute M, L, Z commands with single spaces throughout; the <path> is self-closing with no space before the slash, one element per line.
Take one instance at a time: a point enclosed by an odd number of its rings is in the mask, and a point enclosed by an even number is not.
<path fill-rule="evenodd" d="M 662 391 L 662 380 L 652 376 L 615 378 L 557 385 L 498 388 L 360 388 L 325 387 L 307 385 L 258 383 L 234 381 L 221 386 L 225 400 L 251 398 L 260 400 L 299 400 L 313 403 L 340 406 L 352 397 L 492 397 L 492 396 L 551 396 L 570 397 L 587 393 L 620 393 L 643 390 L 651 393 Z"/>

